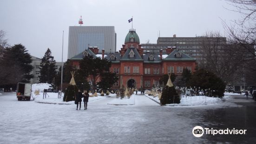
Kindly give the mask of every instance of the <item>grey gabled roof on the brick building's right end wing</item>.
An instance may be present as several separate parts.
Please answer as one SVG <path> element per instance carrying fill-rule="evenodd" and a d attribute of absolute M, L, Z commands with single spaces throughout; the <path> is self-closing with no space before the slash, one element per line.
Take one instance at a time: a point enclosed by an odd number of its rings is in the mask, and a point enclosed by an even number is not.
<path fill-rule="evenodd" d="M 176 53 L 180 52 L 181 53 L 181 57 L 177 57 Z M 185 54 L 182 51 L 179 51 L 177 49 L 173 50 L 165 59 L 163 60 L 192 60 L 192 61 L 196 61 L 196 59 L 190 57 L 189 55 Z"/>

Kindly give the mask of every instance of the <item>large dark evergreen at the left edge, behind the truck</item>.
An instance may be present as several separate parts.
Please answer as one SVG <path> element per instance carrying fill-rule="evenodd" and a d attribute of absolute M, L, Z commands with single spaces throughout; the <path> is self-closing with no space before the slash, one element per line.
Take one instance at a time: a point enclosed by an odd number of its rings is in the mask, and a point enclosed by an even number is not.
<path fill-rule="evenodd" d="M 0 81 L 3 84 L 17 84 L 18 82 L 30 82 L 33 66 L 32 59 L 25 46 L 18 44 L 7 47 L 0 57 L 1 72 Z"/>

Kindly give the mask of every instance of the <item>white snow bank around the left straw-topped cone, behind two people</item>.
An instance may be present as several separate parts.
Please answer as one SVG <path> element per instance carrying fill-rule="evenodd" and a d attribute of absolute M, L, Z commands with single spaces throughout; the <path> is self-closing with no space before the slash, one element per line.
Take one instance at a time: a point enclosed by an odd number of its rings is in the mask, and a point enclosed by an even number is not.
<path fill-rule="evenodd" d="M 104 96 L 100 96 L 100 93 L 97 93 L 97 95 L 98 95 L 98 97 L 89 97 L 88 102 L 106 98 Z M 34 101 L 38 102 L 38 103 L 66 104 L 66 105 L 75 104 L 74 101 L 64 102 L 63 96 L 64 96 L 64 93 L 62 93 L 62 98 L 58 98 L 58 93 L 47 92 L 46 98 L 43 99 L 43 92 L 40 92 L 39 95 L 35 95 L 34 93 L 32 93 L 32 97 L 35 98 Z M 82 98 L 82 100 L 83 100 L 83 98 Z"/>

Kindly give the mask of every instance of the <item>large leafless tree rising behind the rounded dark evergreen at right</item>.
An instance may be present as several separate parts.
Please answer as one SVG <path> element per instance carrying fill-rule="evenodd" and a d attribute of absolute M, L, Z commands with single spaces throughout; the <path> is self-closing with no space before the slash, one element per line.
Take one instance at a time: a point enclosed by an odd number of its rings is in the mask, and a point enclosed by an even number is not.
<path fill-rule="evenodd" d="M 227 44 L 220 33 L 206 32 L 200 48 L 204 60 L 199 67 L 214 72 L 226 83 L 232 81 L 241 62 L 237 59 L 240 52 L 230 52 L 231 49 L 237 49 L 237 46 Z"/>

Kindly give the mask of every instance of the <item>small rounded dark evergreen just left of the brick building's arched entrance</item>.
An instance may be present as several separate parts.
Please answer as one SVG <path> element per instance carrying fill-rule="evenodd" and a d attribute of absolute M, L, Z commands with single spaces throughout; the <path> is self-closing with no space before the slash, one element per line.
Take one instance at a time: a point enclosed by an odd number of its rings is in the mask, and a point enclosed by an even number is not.
<path fill-rule="evenodd" d="M 98 85 L 104 91 L 108 88 L 111 88 L 112 85 L 118 81 L 116 73 L 112 72 L 103 72 L 101 75 L 101 80 L 98 82 Z"/>

